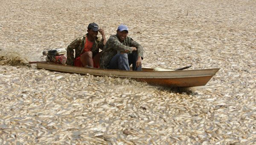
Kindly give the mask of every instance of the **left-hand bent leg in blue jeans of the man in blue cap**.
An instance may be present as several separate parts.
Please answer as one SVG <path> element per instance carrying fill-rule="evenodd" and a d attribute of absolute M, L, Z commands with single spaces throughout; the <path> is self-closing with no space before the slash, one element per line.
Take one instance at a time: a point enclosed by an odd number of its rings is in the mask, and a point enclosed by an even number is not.
<path fill-rule="evenodd" d="M 130 70 L 127 53 L 117 53 L 110 61 L 110 69 Z"/>

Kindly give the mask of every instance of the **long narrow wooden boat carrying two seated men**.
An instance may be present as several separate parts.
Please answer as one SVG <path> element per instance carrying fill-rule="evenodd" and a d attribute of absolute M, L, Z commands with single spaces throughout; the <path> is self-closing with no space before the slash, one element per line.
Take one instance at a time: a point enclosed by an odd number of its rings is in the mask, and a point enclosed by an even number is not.
<path fill-rule="evenodd" d="M 147 82 L 151 85 L 167 87 L 191 87 L 205 85 L 211 79 L 211 77 L 219 71 L 219 68 L 178 71 L 154 71 L 154 69 L 143 68 L 142 71 L 122 71 L 74 67 L 45 62 L 37 62 L 36 64 L 38 69 L 78 74 L 91 74 L 95 76 L 132 78 L 138 81 Z"/>

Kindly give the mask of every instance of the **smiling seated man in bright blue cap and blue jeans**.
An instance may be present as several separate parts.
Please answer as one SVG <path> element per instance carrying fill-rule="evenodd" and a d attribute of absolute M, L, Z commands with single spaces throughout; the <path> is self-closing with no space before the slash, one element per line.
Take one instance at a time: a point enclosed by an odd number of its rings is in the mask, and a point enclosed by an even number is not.
<path fill-rule="evenodd" d="M 119 25 L 117 34 L 111 35 L 100 56 L 100 68 L 141 71 L 143 47 L 128 35 L 128 27 Z"/>

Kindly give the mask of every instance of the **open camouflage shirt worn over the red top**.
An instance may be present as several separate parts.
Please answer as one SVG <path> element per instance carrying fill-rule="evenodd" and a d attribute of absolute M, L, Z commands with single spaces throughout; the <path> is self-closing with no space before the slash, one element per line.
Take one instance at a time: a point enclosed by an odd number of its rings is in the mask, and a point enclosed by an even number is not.
<path fill-rule="evenodd" d="M 78 37 L 76 40 L 74 40 L 72 43 L 69 44 L 67 48 L 67 65 L 74 66 L 74 60 L 76 57 L 80 56 L 84 49 L 84 44 L 86 44 L 86 37 L 88 36 L 81 36 Z M 99 52 L 99 48 L 103 49 L 103 39 L 100 40 L 100 38 L 96 37 L 92 52 L 93 56 Z M 75 57 L 74 57 L 74 49 L 75 49 Z"/>

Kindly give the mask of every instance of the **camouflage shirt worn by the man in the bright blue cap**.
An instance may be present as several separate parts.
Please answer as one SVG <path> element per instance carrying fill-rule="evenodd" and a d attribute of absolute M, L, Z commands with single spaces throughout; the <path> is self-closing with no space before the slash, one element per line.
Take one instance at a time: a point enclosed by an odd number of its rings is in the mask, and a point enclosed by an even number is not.
<path fill-rule="evenodd" d="M 118 51 L 129 50 L 132 52 L 132 47 L 136 47 L 138 50 L 138 56 L 143 57 L 143 47 L 131 37 L 126 37 L 123 42 L 116 35 L 111 35 L 109 40 L 106 42 L 103 52 L 100 57 L 100 68 L 109 69 L 109 63 Z"/>

